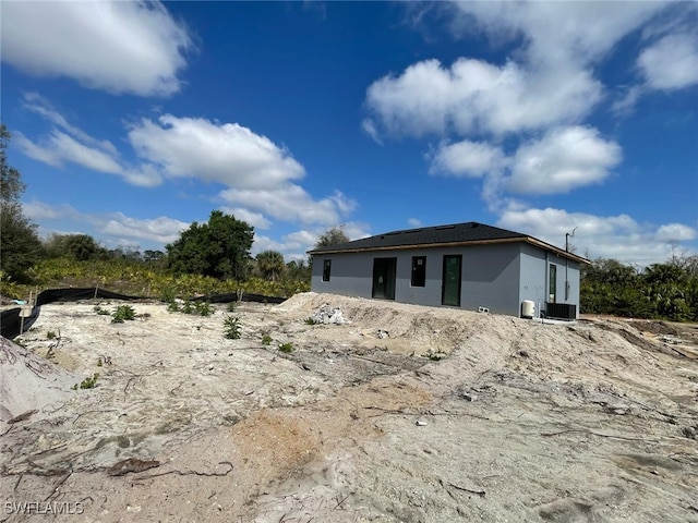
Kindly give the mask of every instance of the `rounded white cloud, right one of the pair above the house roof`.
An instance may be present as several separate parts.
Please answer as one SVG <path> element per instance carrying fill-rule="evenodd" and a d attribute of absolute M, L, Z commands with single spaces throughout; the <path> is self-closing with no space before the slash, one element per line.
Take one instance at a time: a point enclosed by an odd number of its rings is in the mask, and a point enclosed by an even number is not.
<path fill-rule="evenodd" d="M 553 130 L 522 145 L 513 159 L 508 191 L 557 194 L 602 182 L 622 158 L 621 147 L 591 127 Z"/>

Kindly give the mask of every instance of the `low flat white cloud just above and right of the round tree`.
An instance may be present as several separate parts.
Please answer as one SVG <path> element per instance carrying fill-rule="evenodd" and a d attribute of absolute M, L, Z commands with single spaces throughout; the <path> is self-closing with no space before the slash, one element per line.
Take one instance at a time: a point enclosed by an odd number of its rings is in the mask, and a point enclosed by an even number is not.
<path fill-rule="evenodd" d="M 254 209 L 279 220 L 323 226 L 339 222 L 356 205 L 339 192 L 314 200 L 304 188 L 291 183 L 269 190 L 228 188 L 220 196 L 229 204 Z"/>

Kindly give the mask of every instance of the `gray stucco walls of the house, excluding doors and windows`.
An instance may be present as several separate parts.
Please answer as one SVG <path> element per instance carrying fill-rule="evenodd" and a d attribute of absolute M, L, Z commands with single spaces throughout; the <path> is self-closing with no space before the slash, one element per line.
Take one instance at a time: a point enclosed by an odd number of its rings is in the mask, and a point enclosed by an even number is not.
<path fill-rule="evenodd" d="M 443 257 L 462 255 L 460 308 L 519 316 L 521 302 L 547 297 L 549 267 L 557 266 L 557 302 L 579 304 L 579 264 L 549 254 L 526 243 L 472 245 L 467 247 L 414 248 L 313 256 L 311 289 L 357 297 L 371 297 L 374 258 L 397 258 L 395 301 L 419 305 L 442 305 Z M 412 256 L 426 256 L 424 287 L 411 285 Z M 323 279 L 323 260 L 332 260 L 329 281 Z M 570 282 L 565 301 L 565 273 Z M 577 306 L 577 309 L 579 307 Z"/>

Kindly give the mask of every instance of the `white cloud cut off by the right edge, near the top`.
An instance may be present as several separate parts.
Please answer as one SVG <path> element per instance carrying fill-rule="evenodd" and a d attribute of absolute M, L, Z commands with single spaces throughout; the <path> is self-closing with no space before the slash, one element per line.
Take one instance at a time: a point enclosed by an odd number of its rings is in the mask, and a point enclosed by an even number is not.
<path fill-rule="evenodd" d="M 665 36 L 637 59 L 649 88 L 675 90 L 698 84 L 698 34 Z"/>

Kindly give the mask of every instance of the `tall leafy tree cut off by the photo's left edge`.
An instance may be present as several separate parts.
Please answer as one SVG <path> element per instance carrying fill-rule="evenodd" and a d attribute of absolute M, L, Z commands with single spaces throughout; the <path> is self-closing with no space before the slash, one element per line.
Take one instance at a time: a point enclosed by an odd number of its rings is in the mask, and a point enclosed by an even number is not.
<path fill-rule="evenodd" d="M 3 277 L 23 281 L 41 255 L 41 242 L 37 226 L 24 216 L 20 205 L 26 186 L 20 171 L 8 163 L 10 138 L 10 132 L 0 124 L 0 270 Z"/>

